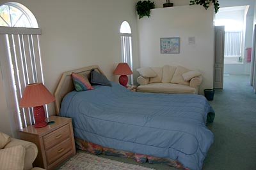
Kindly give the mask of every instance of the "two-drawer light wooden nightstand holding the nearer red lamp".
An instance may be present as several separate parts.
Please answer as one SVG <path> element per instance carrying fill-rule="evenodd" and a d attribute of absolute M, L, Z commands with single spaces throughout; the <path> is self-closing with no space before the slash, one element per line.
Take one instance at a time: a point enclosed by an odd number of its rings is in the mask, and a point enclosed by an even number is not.
<path fill-rule="evenodd" d="M 42 128 L 30 125 L 20 129 L 20 139 L 31 141 L 38 148 L 33 166 L 53 169 L 71 155 L 76 154 L 71 118 L 49 117 L 55 124 Z"/>

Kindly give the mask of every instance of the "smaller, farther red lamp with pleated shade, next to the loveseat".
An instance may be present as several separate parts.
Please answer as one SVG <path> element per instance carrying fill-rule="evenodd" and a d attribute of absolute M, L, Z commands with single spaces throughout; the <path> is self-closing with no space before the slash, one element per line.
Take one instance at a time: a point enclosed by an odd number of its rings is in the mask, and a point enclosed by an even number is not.
<path fill-rule="evenodd" d="M 128 77 L 127 75 L 131 75 L 132 71 L 129 67 L 129 65 L 125 62 L 120 62 L 117 66 L 115 71 L 113 72 L 115 75 L 121 75 L 119 77 L 119 83 L 120 85 L 123 85 L 124 87 L 127 88 L 127 83 L 128 83 Z"/>

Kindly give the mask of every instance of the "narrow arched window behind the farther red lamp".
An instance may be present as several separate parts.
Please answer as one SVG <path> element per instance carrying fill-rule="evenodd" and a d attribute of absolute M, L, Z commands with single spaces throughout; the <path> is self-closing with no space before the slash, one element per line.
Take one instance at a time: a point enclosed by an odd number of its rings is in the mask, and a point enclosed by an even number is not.
<path fill-rule="evenodd" d="M 127 21 L 122 22 L 120 27 L 122 62 L 126 62 L 132 70 L 132 32 Z M 133 75 L 129 77 L 130 84 L 133 84 Z"/>

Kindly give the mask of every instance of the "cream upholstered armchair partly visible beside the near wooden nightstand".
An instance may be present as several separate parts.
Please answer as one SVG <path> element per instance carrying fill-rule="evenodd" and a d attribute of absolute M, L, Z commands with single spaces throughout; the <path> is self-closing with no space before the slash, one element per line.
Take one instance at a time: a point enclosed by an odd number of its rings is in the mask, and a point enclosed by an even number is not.
<path fill-rule="evenodd" d="M 33 168 L 37 153 L 34 143 L 10 138 L 0 132 L 0 169 L 43 170 L 40 167 Z"/>

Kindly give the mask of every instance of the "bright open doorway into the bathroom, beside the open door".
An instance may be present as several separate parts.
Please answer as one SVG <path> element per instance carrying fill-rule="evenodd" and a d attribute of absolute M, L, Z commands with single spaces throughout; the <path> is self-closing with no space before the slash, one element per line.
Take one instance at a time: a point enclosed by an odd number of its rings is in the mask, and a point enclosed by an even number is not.
<path fill-rule="evenodd" d="M 253 16 L 247 16 L 248 9 L 249 6 L 226 7 L 216 14 L 214 25 L 225 26 L 223 76 L 250 75 L 248 50 L 252 50 Z"/>

